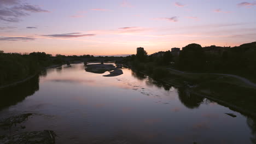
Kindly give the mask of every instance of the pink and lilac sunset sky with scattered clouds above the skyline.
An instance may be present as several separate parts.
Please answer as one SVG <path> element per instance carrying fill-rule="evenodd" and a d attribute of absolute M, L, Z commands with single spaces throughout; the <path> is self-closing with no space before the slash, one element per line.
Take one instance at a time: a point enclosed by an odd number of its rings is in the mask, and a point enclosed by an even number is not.
<path fill-rule="evenodd" d="M 256 1 L 0 0 L 0 50 L 127 55 L 256 41 Z"/>

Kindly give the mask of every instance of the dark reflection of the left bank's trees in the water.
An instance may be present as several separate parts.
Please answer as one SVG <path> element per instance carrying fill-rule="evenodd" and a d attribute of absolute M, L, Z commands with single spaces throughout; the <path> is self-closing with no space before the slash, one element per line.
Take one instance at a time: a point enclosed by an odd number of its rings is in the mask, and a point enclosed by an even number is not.
<path fill-rule="evenodd" d="M 0 110 L 5 107 L 16 105 L 26 97 L 34 94 L 39 90 L 39 75 L 34 76 L 32 79 L 27 80 L 19 85 L 0 89 L 1 100 Z"/>

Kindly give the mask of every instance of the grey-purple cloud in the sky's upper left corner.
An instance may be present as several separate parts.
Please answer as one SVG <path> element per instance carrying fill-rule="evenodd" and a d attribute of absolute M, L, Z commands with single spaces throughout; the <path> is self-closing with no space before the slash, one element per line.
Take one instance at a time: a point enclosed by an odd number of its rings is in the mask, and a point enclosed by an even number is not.
<path fill-rule="evenodd" d="M 38 5 L 30 5 L 15 0 L 0 0 L 0 20 L 7 22 L 19 22 L 20 17 L 29 13 L 48 13 L 50 11 L 40 8 Z"/>

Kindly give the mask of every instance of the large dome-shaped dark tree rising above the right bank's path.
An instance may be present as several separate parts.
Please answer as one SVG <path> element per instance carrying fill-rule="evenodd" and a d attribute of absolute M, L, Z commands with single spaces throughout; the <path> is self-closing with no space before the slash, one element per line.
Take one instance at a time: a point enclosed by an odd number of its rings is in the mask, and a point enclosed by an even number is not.
<path fill-rule="evenodd" d="M 202 70 L 205 68 L 206 56 L 199 44 L 183 47 L 179 55 L 179 68 L 183 70 Z"/>

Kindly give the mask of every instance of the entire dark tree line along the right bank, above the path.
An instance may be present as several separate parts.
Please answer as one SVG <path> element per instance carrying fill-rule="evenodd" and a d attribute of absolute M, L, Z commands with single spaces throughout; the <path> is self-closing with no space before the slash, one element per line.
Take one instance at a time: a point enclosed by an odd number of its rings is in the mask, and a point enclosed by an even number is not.
<path fill-rule="evenodd" d="M 220 53 L 208 52 L 199 44 L 189 44 L 178 56 L 173 56 L 171 51 L 148 56 L 144 51 L 126 57 L 126 62 L 149 73 L 153 73 L 155 66 L 165 65 L 184 71 L 236 74 L 255 79 L 256 42 L 229 47 Z"/>

